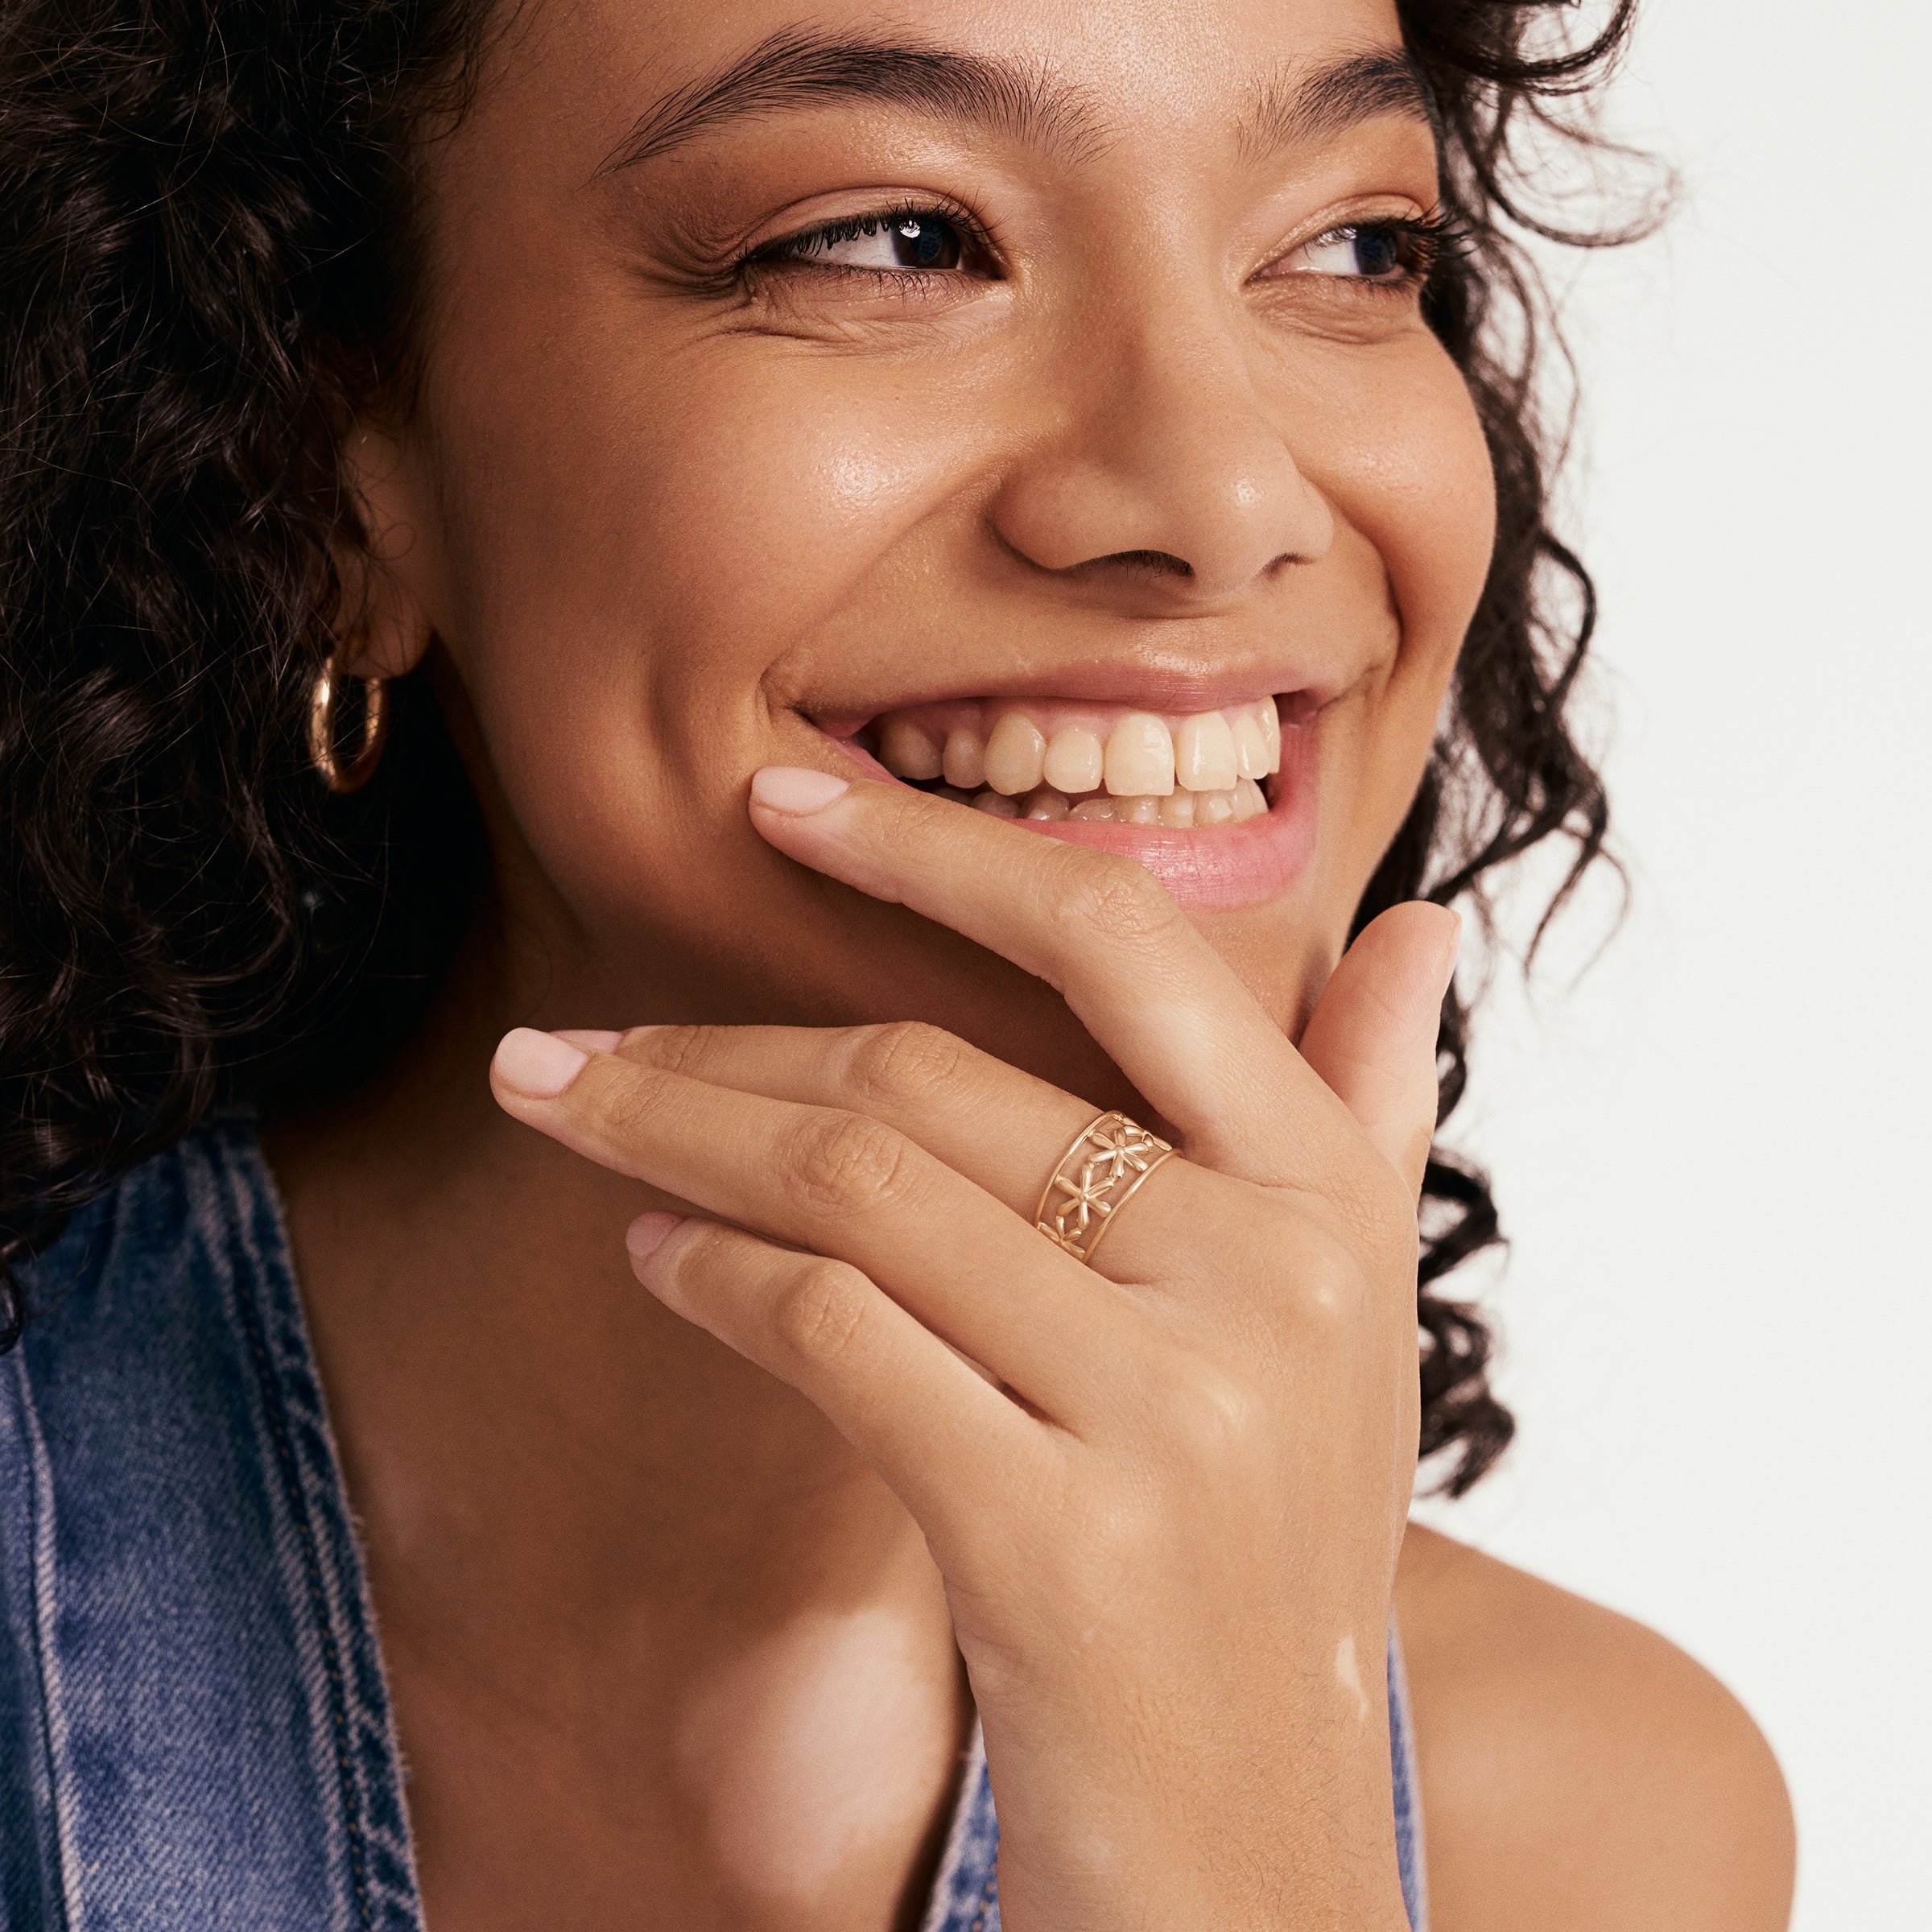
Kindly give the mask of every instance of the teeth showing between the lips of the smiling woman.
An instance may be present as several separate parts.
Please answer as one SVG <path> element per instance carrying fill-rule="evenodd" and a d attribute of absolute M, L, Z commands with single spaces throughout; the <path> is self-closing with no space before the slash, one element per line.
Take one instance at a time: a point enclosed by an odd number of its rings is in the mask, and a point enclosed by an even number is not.
<path fill-rule="evenodd" d="M 1287 705 L 1293 730 L 1294 699 Z M 906 784 L 995 817 L 1206 831 L 1275 806 L 1281 713 L 1271 696 L 1186 715 L 949 699 L 881 713 L 846 746 Z"/>

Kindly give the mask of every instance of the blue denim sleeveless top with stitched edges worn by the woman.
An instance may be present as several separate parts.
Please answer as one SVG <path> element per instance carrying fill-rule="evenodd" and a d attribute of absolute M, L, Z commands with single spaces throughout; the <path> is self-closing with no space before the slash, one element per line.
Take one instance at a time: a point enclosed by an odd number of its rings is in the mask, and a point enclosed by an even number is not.
<path fill-rule="evenodd" d="M 255 1122 L 75 1215 L 0 1358 L 0 1932 L 423 1932 L 369 1590 Z M 1391 1646 L 1410 1924 L 1422 1837 Z M 974 1733 L 923 1932 L 999 1932 Z"/>

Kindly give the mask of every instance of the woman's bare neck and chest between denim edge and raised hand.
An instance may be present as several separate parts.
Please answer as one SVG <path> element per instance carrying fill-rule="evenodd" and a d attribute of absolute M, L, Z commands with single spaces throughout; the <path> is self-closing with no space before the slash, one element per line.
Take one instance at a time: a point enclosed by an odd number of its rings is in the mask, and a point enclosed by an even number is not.
<path fill-rule="evenodd" d="M 489 1094 L 514 1024 L 757 1001 L 616 983 L 545 893 L 516 902 L 381 1080 L 265 1134 L 429 1918 L 605 1922 L 649 1893 L 680 1924 L 914 1924 L 972 1721 L 918 1526 L 810 1403 L 638 1287 L 624 1229 L 678 1204 Z"/>

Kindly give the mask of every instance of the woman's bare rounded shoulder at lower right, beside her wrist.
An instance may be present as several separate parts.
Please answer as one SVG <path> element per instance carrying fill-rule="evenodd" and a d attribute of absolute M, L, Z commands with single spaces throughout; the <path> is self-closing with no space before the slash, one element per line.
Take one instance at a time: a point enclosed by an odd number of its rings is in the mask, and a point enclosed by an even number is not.
<path fill-rule="evenodd" d="M 1395 1609 L 1432 1932 L 1783 1932 L 1785 1783 L 1710 1671 L 1420 1526 Z"/>

